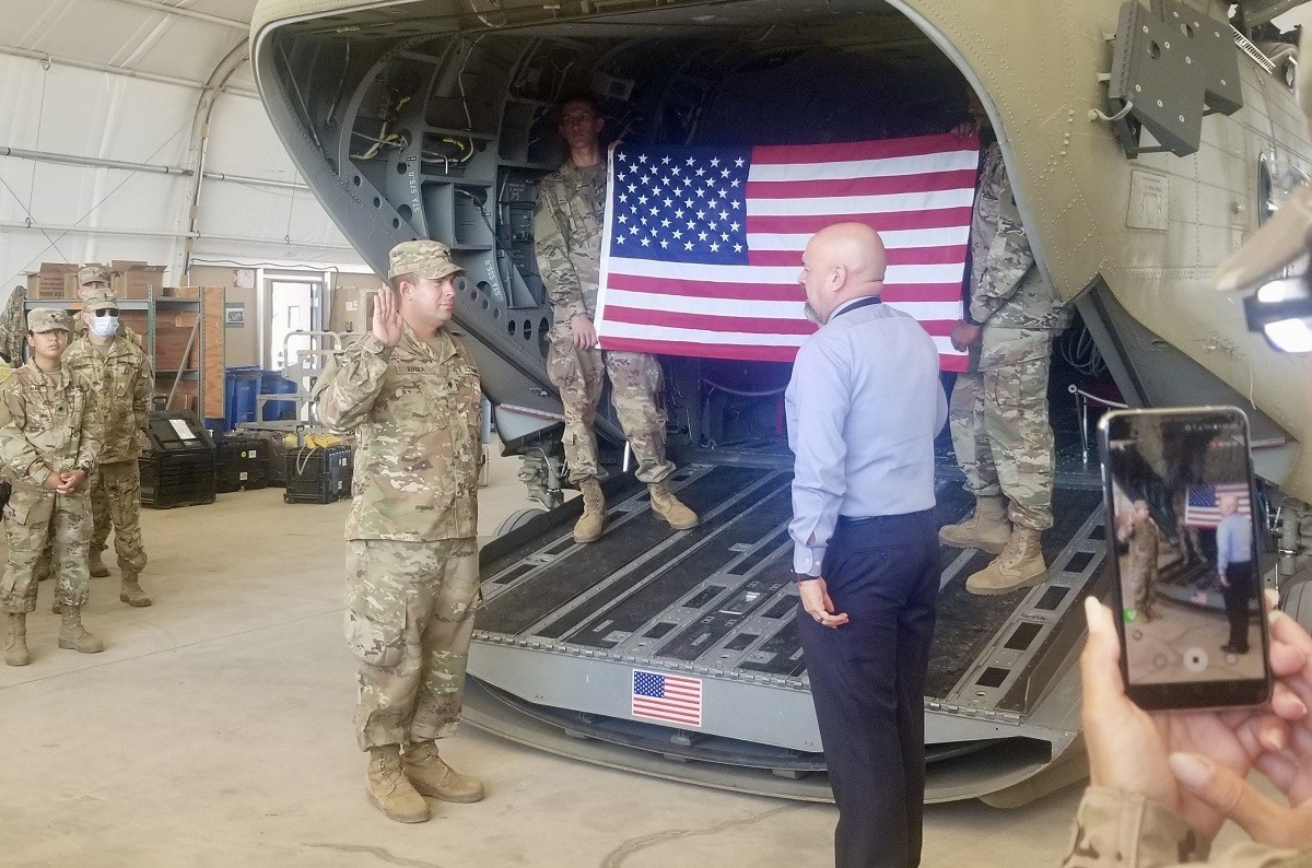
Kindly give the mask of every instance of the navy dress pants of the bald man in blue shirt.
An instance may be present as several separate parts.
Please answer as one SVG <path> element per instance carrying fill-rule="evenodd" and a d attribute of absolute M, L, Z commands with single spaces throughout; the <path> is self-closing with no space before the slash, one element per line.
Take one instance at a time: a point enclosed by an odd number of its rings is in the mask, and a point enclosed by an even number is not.
<path fill-rule="evenodd" d="M 798 607 L 811 696 L 838 804 L 840 868 L 918 865 L 925 671 L 941 577 L 934 510 L 840 518 L 823 577 L 848 624 Z"/>

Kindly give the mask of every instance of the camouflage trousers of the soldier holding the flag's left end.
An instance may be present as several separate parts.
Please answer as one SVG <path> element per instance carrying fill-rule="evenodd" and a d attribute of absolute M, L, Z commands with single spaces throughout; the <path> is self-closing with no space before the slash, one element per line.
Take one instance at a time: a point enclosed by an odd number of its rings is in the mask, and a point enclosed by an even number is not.
<path fill-rule="evenodd" d="M 665 413 L 657 405 L 661 374 L 655 357 L 580 350 L 568 336 L 552 336 L 547 375 L 560 389 L 560 403 L 565 408 L 563 439 L 571 483 L 606 477 L 597 460 L 597 435 L 592 426 L 601 400 L 601 378 L 607 375 L 610 400 L 638 459 L 635 476 L 643 483 L 660 483 L 674 472 L 674 465 L 665 460 Z"/>

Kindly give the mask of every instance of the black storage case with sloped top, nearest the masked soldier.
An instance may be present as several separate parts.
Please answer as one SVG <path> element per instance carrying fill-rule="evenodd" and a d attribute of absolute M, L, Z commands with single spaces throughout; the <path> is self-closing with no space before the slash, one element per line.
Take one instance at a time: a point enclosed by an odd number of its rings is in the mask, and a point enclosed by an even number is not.
<path fill-rule="evenodd" d="M 138 459 L 142 506 L 172 509 L 213 503 L 214 441 L 195 413 L 155 410 L 147 425 L 150 448 Z"/>

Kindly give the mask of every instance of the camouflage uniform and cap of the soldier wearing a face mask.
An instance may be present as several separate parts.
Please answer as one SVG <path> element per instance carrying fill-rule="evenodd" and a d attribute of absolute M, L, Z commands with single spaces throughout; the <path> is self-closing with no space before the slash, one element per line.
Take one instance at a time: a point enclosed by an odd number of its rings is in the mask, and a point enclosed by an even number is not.
<path fill-rule="evenodd" d="M 87 309 L 118 307 L 113 292 L 88 294 Z M 102 396 L 101 422 L 105 429 L 100 467 L 92 476 L 91 509 L 94 531 L 91 552 L 105 551 L 109 528 L 114 528 L 114 551 L 125 576 L 146 568 L 142 547 L 142 477 L 136 458 L 150 418 L 155 376 L 146 353 L 133 340 L 118 334 L 101 351 L 83 336 L 64 350 L 63 363 L 83 375 Z"/>

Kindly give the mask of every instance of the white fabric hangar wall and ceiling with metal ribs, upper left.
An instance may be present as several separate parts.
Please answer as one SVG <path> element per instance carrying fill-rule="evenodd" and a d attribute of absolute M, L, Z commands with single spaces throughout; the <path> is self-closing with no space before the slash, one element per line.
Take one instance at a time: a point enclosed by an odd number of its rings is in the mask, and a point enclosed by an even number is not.
<path fill-rule="evenodd" d="M 258 102 L 256 0 L 4 5 L 0 299 L 41 262 L 366 270 Z"/>

